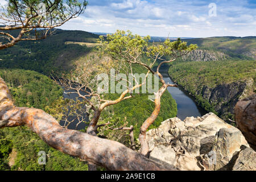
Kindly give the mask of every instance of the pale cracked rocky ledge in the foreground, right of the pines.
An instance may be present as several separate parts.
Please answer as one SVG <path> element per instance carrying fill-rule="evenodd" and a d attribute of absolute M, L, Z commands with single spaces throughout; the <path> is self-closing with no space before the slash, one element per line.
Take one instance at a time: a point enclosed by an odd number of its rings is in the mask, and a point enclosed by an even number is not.
<path fill-rule="evenodd" d="M 180 170 L 256 170 L 256 152 L 240 130 L 209 113 L 171 118 L 146 135 L 150 159 Z"/>

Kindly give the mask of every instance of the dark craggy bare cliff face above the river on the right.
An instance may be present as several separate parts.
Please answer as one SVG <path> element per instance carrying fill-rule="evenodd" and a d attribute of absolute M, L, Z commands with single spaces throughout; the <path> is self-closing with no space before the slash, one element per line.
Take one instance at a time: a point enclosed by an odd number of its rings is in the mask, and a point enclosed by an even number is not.
<path fill-rule="evenodd" d="M 229 113 L 234 114 L 234 106 L 237 102 L 247 97 L 251 92 L 253 92 L 252 78 L 247 81 L 217 85 L 214 88 L 203 86 L 203 89 L 197 91 L 197 95 L 207 100 L 214 107 L 214 110 L 225 118 L 225 115 L 229 115 Z"/>

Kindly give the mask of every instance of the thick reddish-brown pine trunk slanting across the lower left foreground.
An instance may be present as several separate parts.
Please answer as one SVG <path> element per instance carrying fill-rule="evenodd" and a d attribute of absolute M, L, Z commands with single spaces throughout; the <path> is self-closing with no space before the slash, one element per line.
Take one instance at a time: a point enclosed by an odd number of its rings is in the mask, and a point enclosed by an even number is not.
<path fill-rule="evenodd" d="M 166 170 L 121 143 L 67 130 L 43 110 L 15 107 L 0 77 L 0 127 L 27 125 L 49 146 L 109 170 Z M 176 168 L 171 167 L 170 170 Z"/>

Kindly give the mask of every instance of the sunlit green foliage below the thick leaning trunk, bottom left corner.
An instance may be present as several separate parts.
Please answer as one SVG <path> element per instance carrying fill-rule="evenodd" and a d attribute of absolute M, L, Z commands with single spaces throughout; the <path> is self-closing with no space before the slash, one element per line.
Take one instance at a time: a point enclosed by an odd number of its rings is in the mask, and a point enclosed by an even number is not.
<path fill-rule="evenodd" d="M 56 151 L 41 140 L 38 135 L 26 126 L 6 128 L 5 140 L 11 141 L 13 150 L 16 151 L 15 163 L 11 170 L 26 171 L 59 171 L 59 170 L 86 170 L 87 165 L 78 158 Z M 47 154 L 46 165 L 38 163 L 38 152 L 45 151 Z M 1 165 L 1 164 L 0 164 Z M 4 168 L 7 169 L 7 168 Z"/>

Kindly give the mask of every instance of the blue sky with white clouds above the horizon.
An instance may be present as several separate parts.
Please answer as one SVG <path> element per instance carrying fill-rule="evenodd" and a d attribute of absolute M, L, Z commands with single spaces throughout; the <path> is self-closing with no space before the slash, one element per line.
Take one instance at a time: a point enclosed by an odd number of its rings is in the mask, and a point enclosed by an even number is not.
<path fill-rule="evenodd" d="M 174 37 L 255 36 L 256 1 L 88 0 L 66 30 Z M 216 14 L 214 14 L 214 4 Z M 210 5 L 210 6 L 209 6 Z"/>

